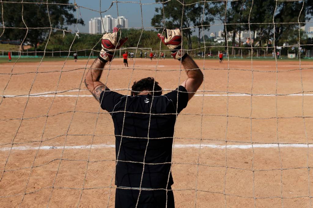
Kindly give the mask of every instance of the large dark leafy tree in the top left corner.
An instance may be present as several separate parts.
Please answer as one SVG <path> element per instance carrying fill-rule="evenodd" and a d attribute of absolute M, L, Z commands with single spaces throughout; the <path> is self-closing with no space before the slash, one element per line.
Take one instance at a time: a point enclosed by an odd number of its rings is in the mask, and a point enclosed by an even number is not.
<path fill-rule="evenodd" d="M 27 2 L 38 2 L 38 0 L 28 0 Z M 37 44 L 43 42 L 49 35 L 50 24 L 52 28 L 61 30 L 67 29 L 65 25 L 75 24 L 76 21 L 78 24 L 84 25 L 81 18 L 76 19 L 74 16 L 75 8 L 74 5 L 69 5 L 69 0 L 50 0 L 48 5 L 41 2 L 3 2 L 2 5 L 3 14 L 1 8 L 0 17 L 3 15 L 4 29 L 0 31 L 2 34 L 0 38 L 19 40 L 20 42 L 23 42 L 25 38 L 24 42 L 33 44 L 35 50 L 37 50 Z M 27 31 L 24 22 L 31 29 Z"/>

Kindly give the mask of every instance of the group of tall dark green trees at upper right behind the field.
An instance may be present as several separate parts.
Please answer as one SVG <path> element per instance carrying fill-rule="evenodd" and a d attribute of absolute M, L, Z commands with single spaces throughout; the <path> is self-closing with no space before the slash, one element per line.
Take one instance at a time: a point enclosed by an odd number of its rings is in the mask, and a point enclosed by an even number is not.
<path fill-rule="evenodd" d="M 251 31 L 252 47 L 273 47 L 273 42 L 275 46 L 282 46 L 285 42 L 298 44 L 299 27 L 310 20 L 313 1 L 184 0 L 183 3 L 166 2 L 162 7 L 157 7 L 155 12 L 151 25 L 160 28 L 160 32 L 164 27 L 181 28 L 190 50 L 200 48 L 201 42 L 205 41 L 204 37 L 200 38 L 202 30 L 209 31 L 211 25 L 223 24 L 225 50 L 228 45 L 232 47 L 229 52 L 234 54 L 236 47 L 244 47 L 240 38 L 243 31 Z M 198 43 L 194 44 L 192 34 L 197 30 Z M 238 42 L 235 40 L 236 35 L 239 35 Z M 308 41 L 305 36 L 300 36 L 300 44 L 307 44 Z"/>

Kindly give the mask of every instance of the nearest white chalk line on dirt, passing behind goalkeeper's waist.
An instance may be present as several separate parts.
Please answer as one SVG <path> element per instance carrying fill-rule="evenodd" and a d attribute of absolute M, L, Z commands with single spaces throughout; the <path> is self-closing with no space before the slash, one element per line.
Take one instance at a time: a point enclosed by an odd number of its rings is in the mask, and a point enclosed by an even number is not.
<path fill-rule="evenodd" d="M 175 144 L 174 148 L 199 148 L 200 144 Z M 92 145 L 92 149 L 100 149 L 100 148 L 114 148 L 115 145 L 108 144 L 98 144 Z M 278 148 L 278 144 L 253 144 L 253 148 Z M 293 148 L 312 148 L 313 144 L 280 144 L 279 147 L 293 147 Z M 58 150 L 58 149 L 89 149 L 90 145 L 86 146 L 41 146 L 40 150 Z M 212 149 L 225 149 L 225 145 L 215 145 L 215 144 L 201 144 L 201 148 L 212 148 Z M 227 145 L 227 149 L 251 149 L 252 144 L 247 145 Z M 0 151 L 9 151 L 10 147 L 0 147 Z M 37 150 L 38 147 L 33 146 L 19 146 L 12 147 L 12 150 Z"/>

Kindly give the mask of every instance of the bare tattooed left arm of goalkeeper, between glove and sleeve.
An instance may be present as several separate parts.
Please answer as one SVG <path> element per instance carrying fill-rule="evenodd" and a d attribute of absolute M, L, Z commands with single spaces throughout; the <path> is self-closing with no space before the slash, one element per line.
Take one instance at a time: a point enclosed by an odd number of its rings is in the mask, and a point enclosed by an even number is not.
<path fill-rule="evenodd" d="M 100 98 L 100 93 L 106 89 L 105 84 L 99 81 L 104 66 L 105 63 L 96 58 L 85 76 L 86 87 L 98 101 Z"/>

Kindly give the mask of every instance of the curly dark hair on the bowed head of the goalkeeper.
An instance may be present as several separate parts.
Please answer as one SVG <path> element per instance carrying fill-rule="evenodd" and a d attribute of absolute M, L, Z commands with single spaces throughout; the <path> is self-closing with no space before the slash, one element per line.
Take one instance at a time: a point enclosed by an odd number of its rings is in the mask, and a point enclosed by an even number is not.
<path fill-rule="evenodd" d="M 147 77 L 139 80 L 138 82 L 134 82 L 133 86 L 131 87 L 131 95 L 136 96 L 142 91 L 153 91 L 153 96 L 162 95 L 162 87 L 159 86 L 159 82 L 154 81 L 153 77 Z"/>

